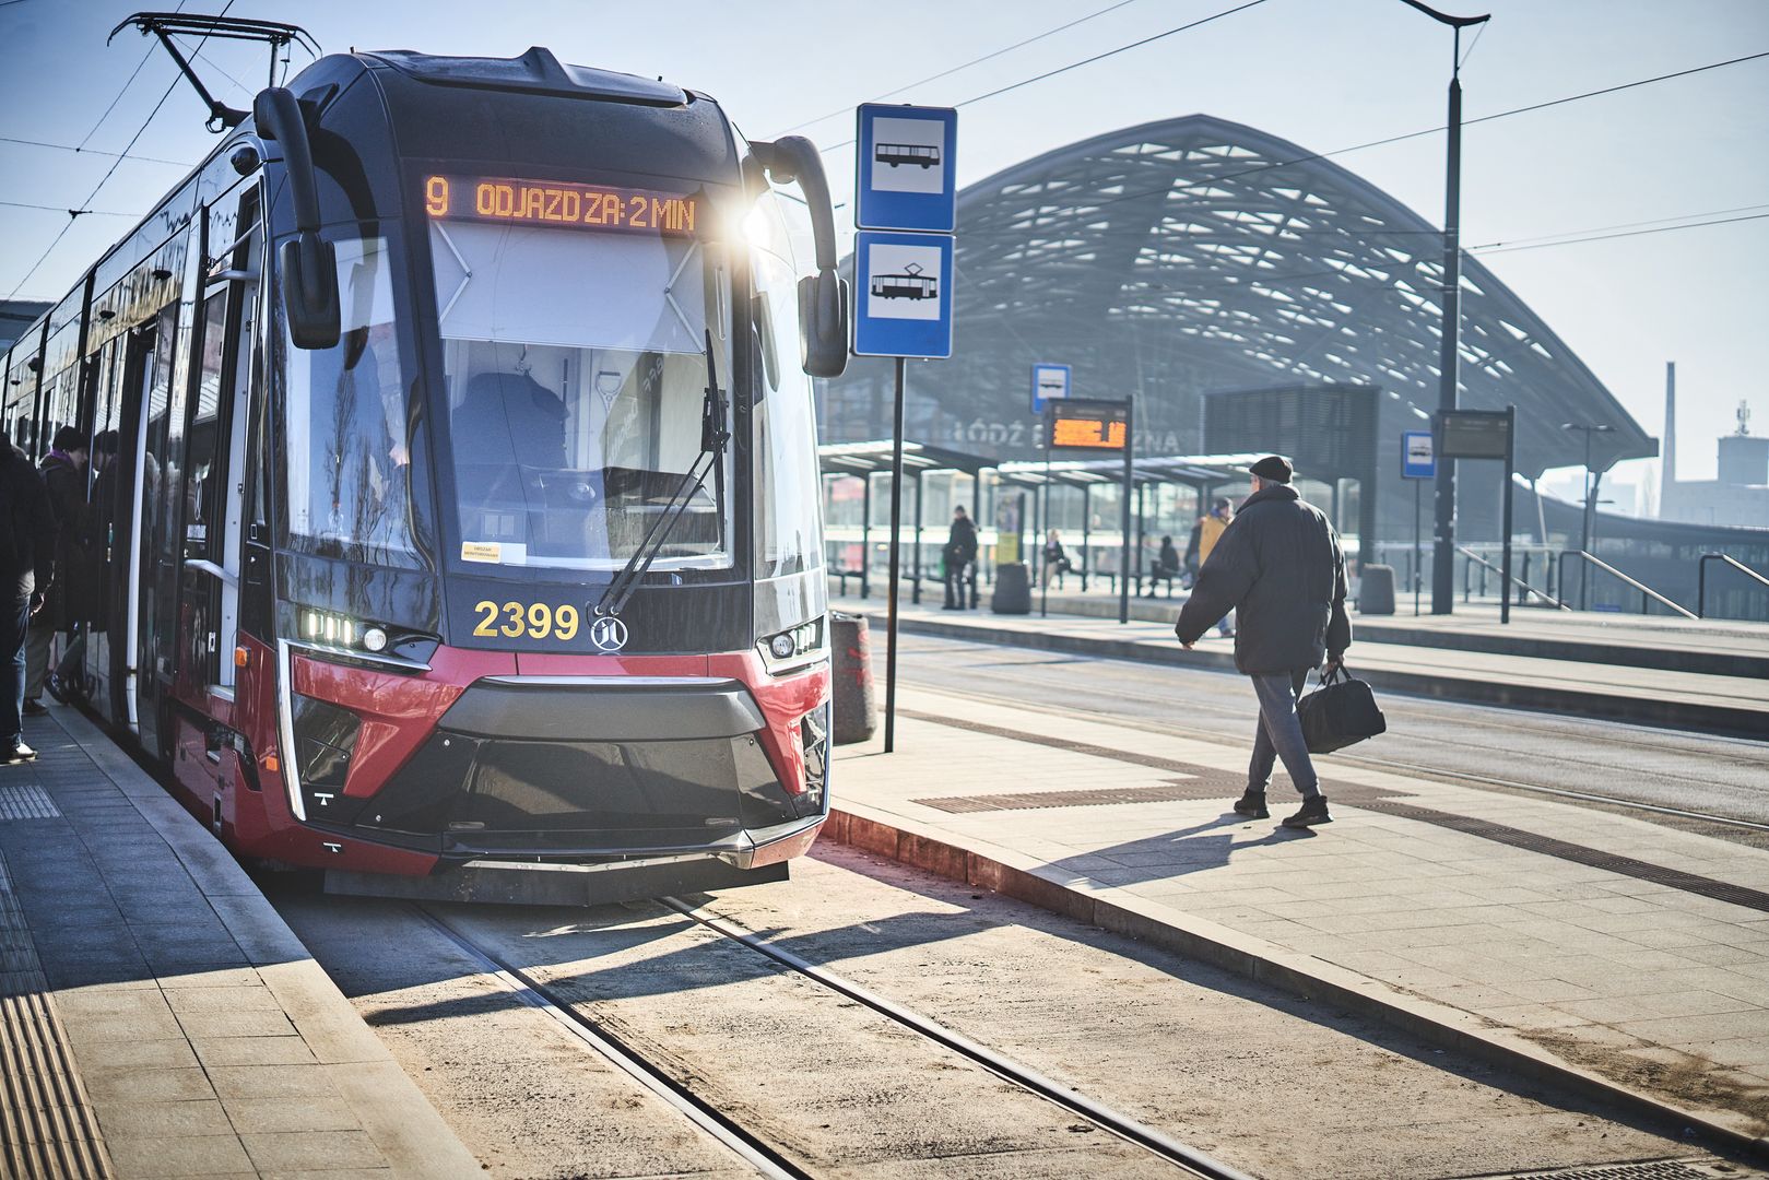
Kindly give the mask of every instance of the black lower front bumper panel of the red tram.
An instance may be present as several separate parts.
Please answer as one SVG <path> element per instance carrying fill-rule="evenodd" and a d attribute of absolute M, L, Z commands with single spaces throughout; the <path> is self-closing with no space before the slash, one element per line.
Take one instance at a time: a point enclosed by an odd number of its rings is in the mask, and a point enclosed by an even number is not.
<path fill-rule="evenodd" d="M 692 856 L 754 872 L 808 849 L 828 808 L 821 771 L 789 789 L 766 734 L 736 679 L 483 678 L 379 791 L 333 796 L 322 823 L 439 869 Z"/>

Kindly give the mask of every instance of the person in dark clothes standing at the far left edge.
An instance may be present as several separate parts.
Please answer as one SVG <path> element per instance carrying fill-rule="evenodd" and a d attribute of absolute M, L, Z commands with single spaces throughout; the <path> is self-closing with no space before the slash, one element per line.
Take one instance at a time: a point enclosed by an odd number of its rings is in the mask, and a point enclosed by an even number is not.
<path fill-rule="evenodd" d="M 55 580 L 55 513 L 42 479 L 0 426 L 0 586 L 7 589 L 0 621 L 0 762 L 28 762 L 19 704 L 25 697 L 25 639 L 30 616 L 42 609 Z"/>

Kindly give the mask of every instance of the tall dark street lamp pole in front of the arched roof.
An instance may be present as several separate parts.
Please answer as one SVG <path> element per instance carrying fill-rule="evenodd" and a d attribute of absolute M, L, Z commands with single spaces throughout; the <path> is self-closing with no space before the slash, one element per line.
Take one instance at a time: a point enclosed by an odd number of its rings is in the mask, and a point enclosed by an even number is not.
<path fill-rule="evenodd" d="M 1438 414 L 1456 409 L 1461 368 L 1461 30 L 1489 21 L 1484 16 L 1451 16 L 1401 0 L 1454 30 L 1449 58 L 1449 150 L 1444 168 L 1444 341 L 1438 354 Z M 1436 511 L 1431 529 L 1431 614 L 1449 614 L 1456 601 L 1456 464 L 1438 462 L 1433 485 Z"/>

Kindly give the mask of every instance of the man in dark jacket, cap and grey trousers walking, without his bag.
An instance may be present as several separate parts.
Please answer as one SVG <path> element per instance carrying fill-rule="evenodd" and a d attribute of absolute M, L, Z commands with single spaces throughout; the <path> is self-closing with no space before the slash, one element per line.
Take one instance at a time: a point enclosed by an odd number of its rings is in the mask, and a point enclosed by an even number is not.
<path fill-rule="evenodd" d="M 1212 623 L 1238 612 L 1235 667 L 1252 679 L 1260 725 L 1247 793 L 1235 810 L 1254 819 L 1270 816 L 1265 787 L 1274 759 L 1283 759 L 1290 782 L 1302 793 L 1302 810 L 1283 824 L 1309 828 L 1332 823 L 1332 816 L 1302 739 L 1297 699 L 1311 669 L 1323 667 L 1323 660 L 1325 667 L 1337 665 L 1352 646 L 1344 554 L 1327 515 L 1290 487 L 1295 474 L 1290 460 L 1268 455 L 1247 471 L 1252 495 L 1199 566 L 1198 586 L 1173 632 L 1191 647 Z"/>

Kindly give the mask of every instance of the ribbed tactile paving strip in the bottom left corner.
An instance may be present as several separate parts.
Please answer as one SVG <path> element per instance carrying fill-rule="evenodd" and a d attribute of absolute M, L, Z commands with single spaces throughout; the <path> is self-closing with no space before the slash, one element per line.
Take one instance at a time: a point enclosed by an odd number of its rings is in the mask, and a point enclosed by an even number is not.
<path fill-rule="evenodd" d="M 0 1173 L 32 1180 L 108 1180 L 113 1175 L 4 856 Z"/>

